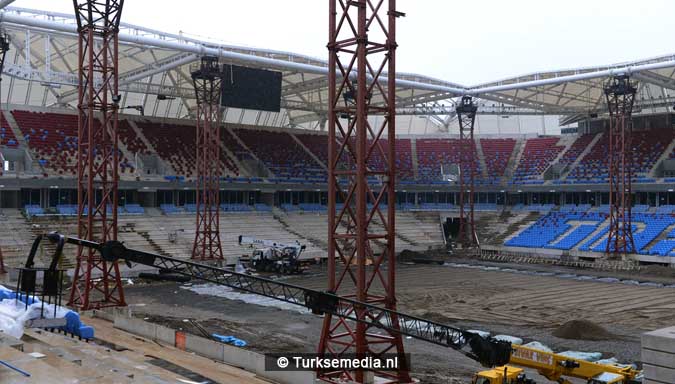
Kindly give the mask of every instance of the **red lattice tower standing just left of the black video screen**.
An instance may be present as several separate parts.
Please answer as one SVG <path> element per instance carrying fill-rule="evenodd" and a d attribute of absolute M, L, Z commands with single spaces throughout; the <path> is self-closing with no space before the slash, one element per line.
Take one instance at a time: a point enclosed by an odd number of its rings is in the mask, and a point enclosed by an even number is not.
<path fill-rule="evenodd" d="M 217 57 L 202 57 L 192 71 L 197 96 L 197 230 L 192 258 L 222 259 L 220 245 L 220 95 L 223 72 Z"/>

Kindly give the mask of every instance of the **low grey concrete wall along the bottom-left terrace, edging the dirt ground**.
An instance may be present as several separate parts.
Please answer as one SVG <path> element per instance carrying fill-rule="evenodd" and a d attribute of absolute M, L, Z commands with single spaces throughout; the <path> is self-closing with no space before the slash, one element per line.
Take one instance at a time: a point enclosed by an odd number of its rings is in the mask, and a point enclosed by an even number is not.
<path fill-rule="evenodd" d="M 177 332 L 171 328 L 141 319 L 116 315 L 114 316 L 114 327 L 177 348 L 183 349 L 184 347 L 186 351 L 239 367 L 276 383 L 310 384 L 315 382 L 314 372 L 269 372 L 265 370 L 265 356 L 260 353 Z M 180 342 L 177 342 L 177 334 Z"/>

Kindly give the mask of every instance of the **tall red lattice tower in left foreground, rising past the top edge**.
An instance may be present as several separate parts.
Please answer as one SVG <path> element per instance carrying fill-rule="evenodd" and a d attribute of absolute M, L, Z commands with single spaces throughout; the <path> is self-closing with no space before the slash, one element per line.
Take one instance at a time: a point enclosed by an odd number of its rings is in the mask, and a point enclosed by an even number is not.
<path fill-rule="evenodd" d="M 118 33 L 124 0 L 73 0 L 79 33 L 78 237 L 117 239 Z M 123 306 L 117 263 L 78 248 L 68 305 Z"/>

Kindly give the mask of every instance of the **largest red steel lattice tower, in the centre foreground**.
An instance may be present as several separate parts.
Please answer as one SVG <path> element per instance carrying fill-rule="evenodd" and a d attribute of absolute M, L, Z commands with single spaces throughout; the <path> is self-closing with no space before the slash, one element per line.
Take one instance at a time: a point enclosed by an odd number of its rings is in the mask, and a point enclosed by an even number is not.
<path fill-rule="evenodd" d="M 329 7 L 328 290 L 396 309 L 395 36 L 402 14 L 395 0 L 331 0 Z M 371 125 L 368 116 L 376 113 L 384 119 Z M 348 311 L 357 318 L 378 316 L 364 308 Z M 400 334 L 326 315 L 320 355 L 381 353 L 399 354 L 399 370 L 320 371 L 318 377 L 333 383 L 370 382 L 371 376 L 410 382 Z"/>

